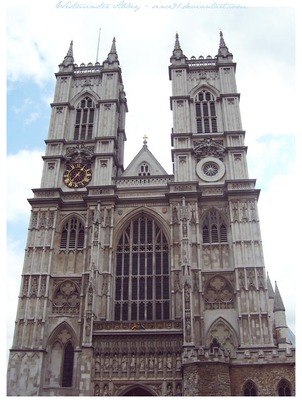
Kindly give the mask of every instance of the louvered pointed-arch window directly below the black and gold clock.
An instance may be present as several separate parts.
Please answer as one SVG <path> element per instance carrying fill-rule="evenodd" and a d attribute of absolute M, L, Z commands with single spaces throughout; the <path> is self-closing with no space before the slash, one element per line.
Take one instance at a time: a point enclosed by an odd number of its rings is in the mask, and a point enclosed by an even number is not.
<path fill-rule="evenodd" d="M 82 223 L 77 218 L 70 218 L 64 225 L 60 249 L 83 249 L 85 231 Z"/>

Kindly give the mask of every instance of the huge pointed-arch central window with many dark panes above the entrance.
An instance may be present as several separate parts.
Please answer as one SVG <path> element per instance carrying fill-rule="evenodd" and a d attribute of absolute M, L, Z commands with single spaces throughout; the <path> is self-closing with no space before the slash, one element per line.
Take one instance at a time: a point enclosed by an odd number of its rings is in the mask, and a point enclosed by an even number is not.
<path fill-rule="evenodd" d="M 121 235 L 114 295 L 114 320 L 169 319 L 169 247 L 153 219 L 139 217 Z"/>

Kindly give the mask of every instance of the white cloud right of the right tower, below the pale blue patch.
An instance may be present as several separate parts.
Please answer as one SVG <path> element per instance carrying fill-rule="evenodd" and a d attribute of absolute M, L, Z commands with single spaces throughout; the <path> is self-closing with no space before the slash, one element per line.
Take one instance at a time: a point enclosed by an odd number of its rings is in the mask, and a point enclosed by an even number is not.
<path fill-rule="evenodd" d="M 297 240 L 299 209 L 295 205 L 297 178 L 295 166 L 287 175 L 275 176 L 266 192 L 261 192 L 258 202 L 264 261 L 272 286 L 277 281 L 287 318 L 295 328 L 295 279 L 297 270 Z"/>

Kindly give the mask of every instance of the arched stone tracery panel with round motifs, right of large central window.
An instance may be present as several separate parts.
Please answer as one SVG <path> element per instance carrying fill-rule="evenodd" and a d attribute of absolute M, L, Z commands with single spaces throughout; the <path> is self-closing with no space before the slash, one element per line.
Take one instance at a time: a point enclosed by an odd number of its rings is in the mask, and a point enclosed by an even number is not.
<path fill-rule="evenodd" d="M 234 308 L 234 297 L 231 286 L 220 276 L 214 277 L 204 293 L 205 309 Z"/>

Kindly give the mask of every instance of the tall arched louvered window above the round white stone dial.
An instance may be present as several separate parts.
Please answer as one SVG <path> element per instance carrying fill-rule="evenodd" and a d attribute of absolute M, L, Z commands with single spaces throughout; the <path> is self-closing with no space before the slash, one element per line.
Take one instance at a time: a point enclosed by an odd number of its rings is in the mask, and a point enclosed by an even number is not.
<path fill-rule="evenodd" d="M 217 116 L 214 96 L 207 91 L 201 91 L 195 102 L 197 133 L 216 133 Z"/>

